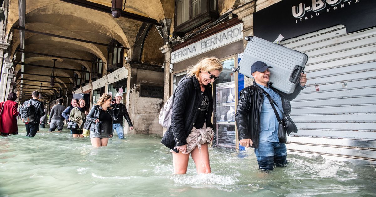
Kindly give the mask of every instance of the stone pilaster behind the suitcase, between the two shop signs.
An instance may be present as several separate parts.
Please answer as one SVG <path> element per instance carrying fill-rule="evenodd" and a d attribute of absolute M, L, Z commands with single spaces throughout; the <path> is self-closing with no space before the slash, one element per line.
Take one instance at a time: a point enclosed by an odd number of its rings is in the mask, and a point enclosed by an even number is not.
<path fill-rule="evenodd" d="M 253 36 L 253 13 L 255 12 L 255 1 L 239 6 L 232 11 L 233 14 L 238 15 L 238 19 L 243 21 L 243 35 Z M 244 48 L 246 48 L 248 41 L 244 40 Z M 253 79 L 244 76 L 244 87 L 252 85 Z"/>

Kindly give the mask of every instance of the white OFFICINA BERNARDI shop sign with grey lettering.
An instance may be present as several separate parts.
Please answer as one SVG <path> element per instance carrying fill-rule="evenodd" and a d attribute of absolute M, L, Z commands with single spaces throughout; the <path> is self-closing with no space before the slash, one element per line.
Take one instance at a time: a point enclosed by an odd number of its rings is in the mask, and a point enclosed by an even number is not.
<path fill-rule="evenodd" d="M 180 48 L 171 53 L 171 63 L 180 62 L 189 57 L 213 50 L 217 47 L 230 44 L 232 42 L 243 39 L 243 24 L 237 24 L 229 29 L 209 36 L 208 38 L 197 41 L 193 44 Z"/>

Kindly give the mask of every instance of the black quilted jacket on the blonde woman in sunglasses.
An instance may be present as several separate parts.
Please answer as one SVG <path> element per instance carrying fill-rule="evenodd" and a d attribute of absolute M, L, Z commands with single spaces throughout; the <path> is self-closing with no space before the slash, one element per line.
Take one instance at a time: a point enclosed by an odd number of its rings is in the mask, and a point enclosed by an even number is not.
<path fill-rule="evenodd" d="M 209 104 L 208 113 L 206 114 L 206 127 L 213 128 L 211 116 L 213 113 L 213 95 L 212 86 L 206 86 L 208 90 Z M 193 129 L 194 123 L 199 115 L 199 108 L 202 103 L 202 95 L 199 80 L 196 77 L 183 77 L 179 82 L 174 96 L 174 103 L 171 113 L 171 126 L 167 129 L 162 138 L 162 144 L 169 147 L 175 152 L 175 146 L 186 144 L 186 138 Z"/>

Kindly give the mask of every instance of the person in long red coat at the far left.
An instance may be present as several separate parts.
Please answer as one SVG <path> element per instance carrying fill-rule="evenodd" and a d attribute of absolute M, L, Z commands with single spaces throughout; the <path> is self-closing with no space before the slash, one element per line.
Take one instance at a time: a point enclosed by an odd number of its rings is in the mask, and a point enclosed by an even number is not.
<path fill-rule="evenodd" d="M 17 95 L 14 92 L 9 93 L 7 101 L 0 102 L 0 135 L 7 136 L 9 134 L 17 135 L 17 116 L 18 103 L 14 102 Z"/>

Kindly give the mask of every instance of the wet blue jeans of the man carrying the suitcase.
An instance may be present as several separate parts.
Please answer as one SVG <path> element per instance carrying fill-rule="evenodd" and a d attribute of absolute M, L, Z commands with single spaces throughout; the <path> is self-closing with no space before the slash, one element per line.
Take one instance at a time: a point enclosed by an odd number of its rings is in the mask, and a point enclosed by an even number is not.
<path fill-rule="evenodd" d="M 278 167 L 288 164 L 285 143 L 260 140 L 259 146 L 255 148 L 255 154 L 259 168 L 262 170 L 273 170 L 274 164 Z"/>

